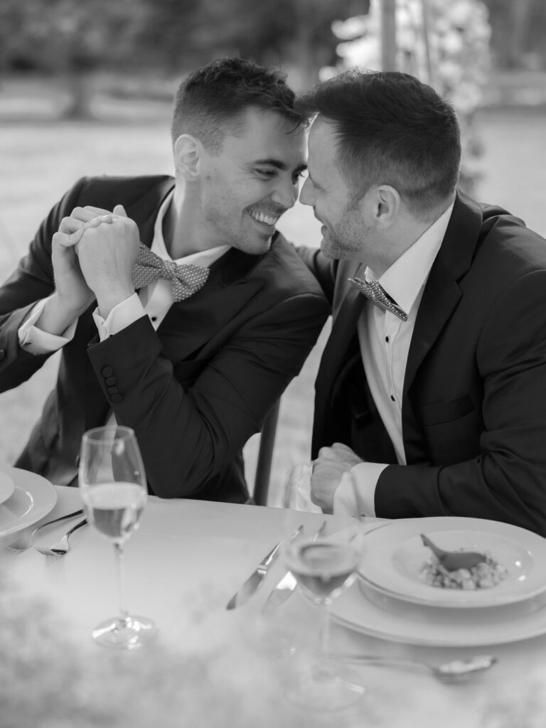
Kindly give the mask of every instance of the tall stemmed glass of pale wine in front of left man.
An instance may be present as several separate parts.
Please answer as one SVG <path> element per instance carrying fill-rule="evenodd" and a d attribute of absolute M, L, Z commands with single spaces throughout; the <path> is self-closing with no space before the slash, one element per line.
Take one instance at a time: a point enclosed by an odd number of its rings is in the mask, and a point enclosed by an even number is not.
<path fill-rule="evenodd" d="M 148 497 L 141 451 L 130 427 L 107 425 L 84 432 L 79 487 L 87 520 L 116 553 L 119 617 L 101 622 L 92 637 L 108 647 L 135 649 L 156 627 L 147 617 L 131 616 L 124 601 L 124 543 L 138 528 Z"/>

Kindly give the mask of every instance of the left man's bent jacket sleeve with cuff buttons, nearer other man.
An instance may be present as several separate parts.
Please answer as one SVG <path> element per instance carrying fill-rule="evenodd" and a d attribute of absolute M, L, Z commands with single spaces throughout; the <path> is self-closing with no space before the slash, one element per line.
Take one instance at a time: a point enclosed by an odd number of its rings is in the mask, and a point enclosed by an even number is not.
<path fill-rule="evenodd" d="M 285 298 L 247 320 L 205 365 L 183 362 L 176 371 L 147 317 L 89 349 L 116 419 L 136 432 L 155 494 L 199 497 L 261 429 L 327 317 L 319 293 Z"/>

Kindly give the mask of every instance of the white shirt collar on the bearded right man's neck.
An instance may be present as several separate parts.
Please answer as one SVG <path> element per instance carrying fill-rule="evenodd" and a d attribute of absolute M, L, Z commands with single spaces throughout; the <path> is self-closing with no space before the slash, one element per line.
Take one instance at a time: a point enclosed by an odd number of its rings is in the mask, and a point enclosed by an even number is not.
<path fill-rule="evenodd" d="M 455 202 L 451 202 L 430 228 L 427 228 L 379 278 L 386 293 L 406 314 L 411 311 L 419 292 L 427 282 L 430 269 L 446 234 L 454 204 Z M 365 269 L 365 279 L 375 280 L 371 268 Z"/>

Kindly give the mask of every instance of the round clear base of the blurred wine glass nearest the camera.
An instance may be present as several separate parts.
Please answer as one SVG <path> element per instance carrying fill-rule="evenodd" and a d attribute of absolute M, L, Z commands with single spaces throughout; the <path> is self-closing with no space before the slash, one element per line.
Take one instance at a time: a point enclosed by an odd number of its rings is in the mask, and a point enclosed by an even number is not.
<path fill-rule="evenodd" d="M 286 697 L 300 708 L 314 711 L 341 711 L 363 697 L 365 687 L 355 670 L 343 665 L 314 665 L 296 676 Z"/>

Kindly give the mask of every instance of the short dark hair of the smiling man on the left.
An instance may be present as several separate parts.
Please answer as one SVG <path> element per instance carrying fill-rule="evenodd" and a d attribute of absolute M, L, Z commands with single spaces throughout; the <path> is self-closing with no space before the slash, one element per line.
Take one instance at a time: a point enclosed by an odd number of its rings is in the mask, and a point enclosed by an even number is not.
<path fill-rule="evenodd" d="M 211 152 L 220 151 L 223 138 L 237 133 L 249 107 L 276 111 L 293 123 L 307 124 L 295 111 L 296 95 L 278 71 L 243 58 L 221 58 L 197 69 L 181 82 L 175 94 L 171 135 L 191 134 Z"/>

